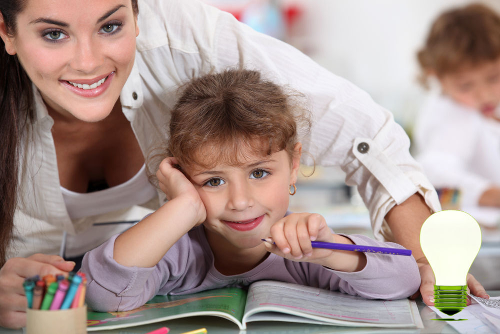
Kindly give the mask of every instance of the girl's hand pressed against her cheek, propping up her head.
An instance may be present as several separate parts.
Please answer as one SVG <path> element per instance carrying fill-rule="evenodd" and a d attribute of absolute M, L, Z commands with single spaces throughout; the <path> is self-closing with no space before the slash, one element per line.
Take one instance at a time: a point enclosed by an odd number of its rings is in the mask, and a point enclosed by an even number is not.
<path fill-rule="evenodd" d="M 196 226 L 206 219 L 205 206 L 199 198 L 198 192 L 178 168 L 177 160 L 174 157 L 165 158 L 161 161 L 156 177 L 159 187 L 165 193 L 167 200 L 182 197 L 190 203 L 189 205 L 192 206 L 193 212 L 195 212 Z"/>

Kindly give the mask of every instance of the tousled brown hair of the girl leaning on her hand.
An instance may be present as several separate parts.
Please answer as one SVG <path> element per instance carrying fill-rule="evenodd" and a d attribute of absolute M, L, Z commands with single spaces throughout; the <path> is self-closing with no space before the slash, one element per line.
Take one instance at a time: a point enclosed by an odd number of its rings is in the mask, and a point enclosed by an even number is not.
<path fill-rule="evenodd" d="M 167 154 L 180 166 L 203 167 L 238 165 L 245 158 L 242 147 L 262 156 L 285 150 L 291 157 L 298 132 L 310 128 L 297 95 L 251 70 L 193 79 L 171 112 Z M 206 154 L 205 143 L 219 154 Z"/>

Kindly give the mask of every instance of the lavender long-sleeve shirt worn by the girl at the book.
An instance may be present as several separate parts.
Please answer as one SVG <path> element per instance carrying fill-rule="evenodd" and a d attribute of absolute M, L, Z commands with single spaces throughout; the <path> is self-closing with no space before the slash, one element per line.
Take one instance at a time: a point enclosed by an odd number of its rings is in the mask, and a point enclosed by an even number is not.
<path fill-rule="evenodd" d="M 139 307 L 156 294 L 187 294 L 224 286 L 247 286 L 271 279 L 339 290 L 365 298 L 398 299 L 420 285 L 412 256 L 366 253 L 366 266 L 342 272 L 308 262 L 295 262 L 275 254 L 242 274 L 226 276 L 215 269 L 204 229 L 198 226 L 182 236 L 154 267 L 126 267 L 113 259 L 117 235 L 89 251 L 81 270 L 88 284 L 87 305 L 97 311 L 124 311 Z M 397 247 L 362 235 L 348 236 L 356 244 Z"/>

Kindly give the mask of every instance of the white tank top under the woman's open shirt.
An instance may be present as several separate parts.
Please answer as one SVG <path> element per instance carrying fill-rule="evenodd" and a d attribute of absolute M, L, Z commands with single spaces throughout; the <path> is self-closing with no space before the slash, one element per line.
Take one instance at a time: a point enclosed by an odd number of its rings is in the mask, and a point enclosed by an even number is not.
<path fill-rule="evenodd" d="M 89 193 L 78 193 L 61 187 L 62 197 L 71 219 L 112 212 L 142 204 L 157 195 L 148 182 L 145 165 L 128 181 L 114 187 Z"/>

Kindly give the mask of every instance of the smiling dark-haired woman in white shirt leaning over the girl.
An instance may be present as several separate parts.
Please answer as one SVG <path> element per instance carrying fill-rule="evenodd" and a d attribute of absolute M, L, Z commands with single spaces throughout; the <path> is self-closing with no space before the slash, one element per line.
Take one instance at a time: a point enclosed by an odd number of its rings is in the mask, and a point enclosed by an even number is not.
<path fill-rule="evenodd" d="M 136 0 L 10 0 L 0 11 L 1 326 L 25 322 L 24 277 L 73 268 L 53 254 L 79 257 L 164 202 L 144 157 L 164 138 L 173 92 L 237 65 L 308 97 L 304 149 L 358 186 L 377 239 L 412 249 L 430 302 L 418 234 L 437 197 L 403 130 L 367 94 L 194 0 L 142 0 L 140 15 Z M 484 294 L 472 278 L 469 286 Z"/>

